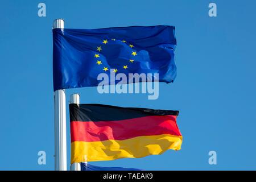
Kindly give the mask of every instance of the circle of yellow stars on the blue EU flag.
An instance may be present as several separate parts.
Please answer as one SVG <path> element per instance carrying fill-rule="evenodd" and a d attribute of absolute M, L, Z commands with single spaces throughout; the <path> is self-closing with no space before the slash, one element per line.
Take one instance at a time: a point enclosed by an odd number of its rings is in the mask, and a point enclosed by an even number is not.
<path fill-rule="evenodd" d="M 111 39 L 111 40 L 115 41 L 116 39 Z M 126 40 L 122 40 L 121 42 L 127 43 Z M 105 39 L 105 40 L 102 41 L 102 44 L 105 44 L 105 45 L 106 45 L 106 44 L 108 44 L 108 43 L 109 43 L 109 42 L 108 42 L 108 39 Z M 129 47 L 130 47 L 130 48 L 133 48 L 134 46 L 133 46 L 133 44 L 129 44 Z M 101 46 L 98 46 L 97 49 L 96 49 L 96 51 L 101 52 L 101 51 L 102 51 Z M 136 52 L 136 51 L 132 51 L 132 52 L 131 52 L 131 55 L 136 56 L 136 55 L 137 55 L 137 52 Z M 101 64 L 102 64 L 101 60 L 98 60 L 98 58 L 100 57 L 100 53 L 95 53 L 95 54 L 94 54 L 94 57 L 97 58 L 96 64 L 101 65 Z M 130 60 L 129 60 L 129 63 L 133 63 L 133 62 L 134 62 L 134 59 L 130 59 Z M 127 68 L 129 68 L 128 65 L 123 65 L 123 69 L 127 69 Z M 104 67 L 104 68 L 102 69 L 102 71 L 107 72 L 107 71 L 109 71 L 109 68 L 108 68 L 108 67 Z M 114 68 L 114 69 L 113 69 L 113 72 L 114 72 L 114 73 L 118 72 L 118 69 L 117 69 L 117 68 Z"/>

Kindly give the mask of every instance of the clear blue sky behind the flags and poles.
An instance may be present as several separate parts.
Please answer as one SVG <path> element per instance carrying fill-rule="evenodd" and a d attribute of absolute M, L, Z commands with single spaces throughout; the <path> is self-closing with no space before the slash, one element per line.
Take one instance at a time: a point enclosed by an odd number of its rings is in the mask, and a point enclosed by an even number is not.
<path fill-rule="evenodd" d="M 38 3 L 47 16 L 38 16 Z M 208 16 L 210 2 L 217 17 Z M 52 22 L 66 28 L 168 24 L 176 27 L 177 77 L 160 84 L 158 100 L 146 94 L 66 90 L 82 103 L 180 110 L 180 151 L 92 164 L 152 170 L 255 169 L 255 1 L 1 1 L 0 169 L 54 169 Z M 70 162 L 67 111 L 68 163 Z M 38 165 L 38 151 L 47 154 Z M 208 152 L 217 152 L 217 165 Z"/>

